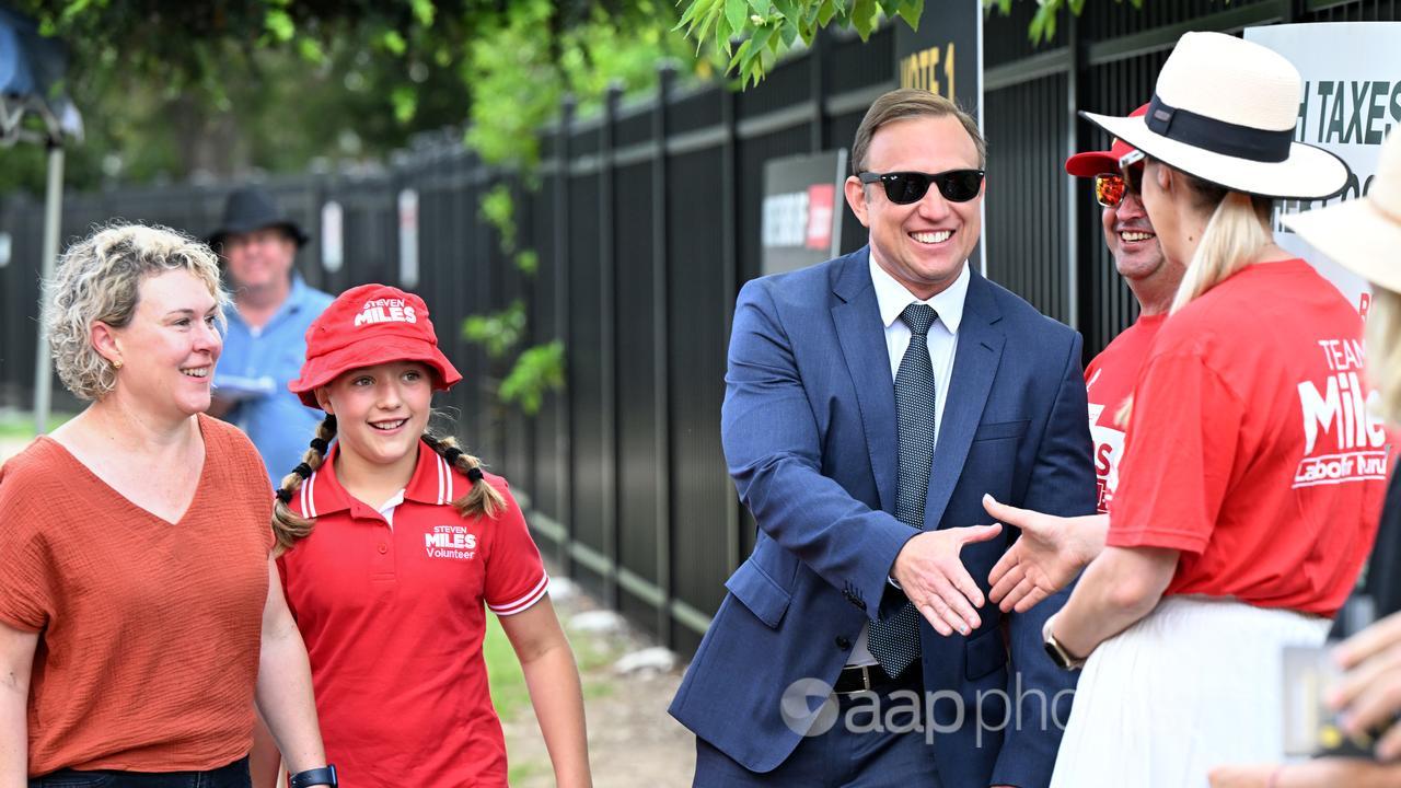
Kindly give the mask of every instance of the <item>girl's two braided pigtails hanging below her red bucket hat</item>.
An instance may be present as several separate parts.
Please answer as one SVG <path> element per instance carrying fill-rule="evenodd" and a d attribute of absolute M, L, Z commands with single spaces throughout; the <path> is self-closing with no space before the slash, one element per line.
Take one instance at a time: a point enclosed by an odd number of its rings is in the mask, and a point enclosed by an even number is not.
<path fill-rule="evenodd" d="M 331 447 L 331 440 L 336 436 L 336 416 L 326 414 L 317 425 L 317 436 L 301 458 L 301 464 L 282 477 L 277 487 L 277 501 L 272 509 L 272 533 L 277 537 L 277 551 L 284 552 L 291 545 L 311 536 L 317 520 L 303 517 L 291 510 L 291 499 L 301 489 L 301 482 L 311 477 L 325 461 Z M 482 478 L 482 461 L 462 451 L 457 439 L 439 436 L 432 432 L 423 433 L 423 443 L 439 453 L 454 468 L 462 471 L 472 482 L 467 494 L 453 502 L 453 508 L 464 517 L 488 516 L 495 517 L 506 509 L 506 498 L 489 481 Z"/>

